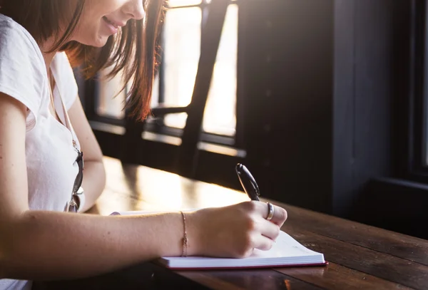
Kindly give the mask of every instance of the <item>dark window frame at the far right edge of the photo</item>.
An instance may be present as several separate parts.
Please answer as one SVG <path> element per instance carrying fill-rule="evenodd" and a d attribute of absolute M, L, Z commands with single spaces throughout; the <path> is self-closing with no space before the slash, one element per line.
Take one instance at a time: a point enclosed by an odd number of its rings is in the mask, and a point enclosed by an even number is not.
<path fill-rule="evenodd" d="M 393 128 L 398 133 L 393 159 L 397 160 L 395 177 L 428 183 L 428 165 L 425 164 L 428 105 L 428 5 L 427 0 L 409 1 L 408 23 L 397 64 L 397 119 Z M 397 54 L 398 56 L 398 54 Z"/>

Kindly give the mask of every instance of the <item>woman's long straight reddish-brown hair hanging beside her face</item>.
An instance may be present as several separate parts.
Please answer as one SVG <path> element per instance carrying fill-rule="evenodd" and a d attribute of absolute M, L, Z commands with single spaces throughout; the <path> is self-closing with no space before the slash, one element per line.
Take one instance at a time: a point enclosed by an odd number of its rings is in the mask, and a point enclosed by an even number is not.
<path fill-rule="evenodd" d="M 86 78 L 93 78 L 104 68 L 110 68 L 107 78 L 122 73 L 123 83 L 132 84 L 126 98 L 126 108 L 133 117 L 143 120 L 150 113 L 158 65 L 158 35 L 165 12 L 164 0 L 141 0 L 146 12 L 144 19 L 128 21 L 121 31 L 108 38 L 102 48 L 69 41 L 76 30 L 85 1 L 76 0 L 73 14 L 67 14 L 70 4 L 65 0 L 0 0 L 0 13 L 24 26 L 38 43 L 55 36 L 56 42 L 51 51 L 66 51 L 71 65 L 81 66 Z M 68 19 L 64 19 L 66 17 Z M 60 24 L 64 21 L 68 27 L 63 35 L 58 35 Z"/>

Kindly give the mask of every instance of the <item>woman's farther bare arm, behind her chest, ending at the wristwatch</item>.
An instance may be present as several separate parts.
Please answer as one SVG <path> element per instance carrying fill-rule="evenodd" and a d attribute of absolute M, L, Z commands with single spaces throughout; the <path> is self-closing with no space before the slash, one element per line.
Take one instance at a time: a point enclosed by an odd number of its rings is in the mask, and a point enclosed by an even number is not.
<path fill-rule="evenodd" d="M 76 101 L 68 110 L 68 115 L 80 142 L 85 161 L 82 187 L 85 190 L 86 202 L 81 208 L 81 212 L 86 212 L 95 204 L 96 199 L 106 186 L 103 153 L 93 135 L 79 98 L 76 98 Z"/>

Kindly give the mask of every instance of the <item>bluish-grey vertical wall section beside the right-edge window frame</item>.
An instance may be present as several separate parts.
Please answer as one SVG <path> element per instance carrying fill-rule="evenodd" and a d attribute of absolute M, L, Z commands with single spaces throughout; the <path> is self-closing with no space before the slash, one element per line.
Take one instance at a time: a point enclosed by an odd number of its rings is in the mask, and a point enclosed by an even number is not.
<path fill-rule="evenodd" d="M 398 1 L 335 1 L 335 214 L 357 212 L 372 177 L 390 171 L 394 5 Z"/>

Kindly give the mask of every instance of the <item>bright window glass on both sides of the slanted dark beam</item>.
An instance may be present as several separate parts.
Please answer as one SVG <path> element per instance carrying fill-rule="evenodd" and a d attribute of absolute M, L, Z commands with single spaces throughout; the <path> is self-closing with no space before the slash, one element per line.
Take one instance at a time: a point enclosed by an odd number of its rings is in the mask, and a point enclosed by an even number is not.
<path fill-rule="evenodd" d="M 175 0 L 174 3 L 179 3 Z M 187 2 L 187 1 L 183 1 Z M 165 19 L 164 102 L 188 105 L 193 91 L 200 54 L 200 26 L 203 8 L 170 9 Z M 238 6 L 231 4 L 226 15 L 213 73 L 203 130 L 218 135 L 235 135 L 236 64 L 238 56 Z M 165 125 L 183 128 L 185 114 L 169 115 Z"/>

